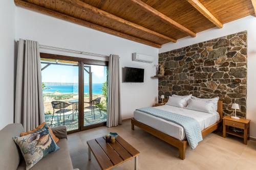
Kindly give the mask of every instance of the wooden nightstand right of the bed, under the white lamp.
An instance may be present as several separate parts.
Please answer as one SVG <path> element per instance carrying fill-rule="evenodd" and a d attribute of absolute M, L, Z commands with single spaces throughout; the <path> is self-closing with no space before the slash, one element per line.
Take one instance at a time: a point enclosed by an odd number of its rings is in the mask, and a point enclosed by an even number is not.
<path fill-rule="evenodd" d="M 243 129 L 244 133 L 238 133 L 226 129 L 226 126 L 231 126 L 234 128 Z M 230 116 L 223 117 L 223 137 L 226 137 L 226 133 L 234 136 L 244 138 L 244 144 L 247 144 L 248 134 L 249 134 L 250 120 L 245 118 L 234 119 Z"/>

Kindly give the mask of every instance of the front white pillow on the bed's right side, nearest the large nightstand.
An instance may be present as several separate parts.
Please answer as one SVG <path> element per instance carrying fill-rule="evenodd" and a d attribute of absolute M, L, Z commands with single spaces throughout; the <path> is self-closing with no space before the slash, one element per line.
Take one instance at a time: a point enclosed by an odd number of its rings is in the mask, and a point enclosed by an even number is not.
<path fill-rule="evenodd" d="M 188 105 L 186 108 L 190 110 L 197 110 L 197 111 L 211 113 L 211 114 L 216 113 L 216 111 L 214 110 L 215 108 L 214 103 L 205 102 L 201 100 L 189 99 Z"/>

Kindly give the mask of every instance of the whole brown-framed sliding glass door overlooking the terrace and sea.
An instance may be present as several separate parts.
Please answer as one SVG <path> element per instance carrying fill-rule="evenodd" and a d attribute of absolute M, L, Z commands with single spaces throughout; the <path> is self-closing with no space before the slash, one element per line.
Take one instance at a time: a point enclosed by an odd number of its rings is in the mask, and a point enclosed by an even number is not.
<path fill-rule="evenodd" d="M 46 123 L 69 133 L 106 124 L 108 62 L 41 53 Z"/>

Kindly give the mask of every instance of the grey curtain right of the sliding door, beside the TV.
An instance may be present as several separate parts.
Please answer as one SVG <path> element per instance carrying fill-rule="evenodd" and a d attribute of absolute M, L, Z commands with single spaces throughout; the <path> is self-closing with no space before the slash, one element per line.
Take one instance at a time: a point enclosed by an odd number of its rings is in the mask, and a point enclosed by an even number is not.
<path fill-rule="evenodd" d="M 113 127 L 122 123 L 121 101 L 120 101 L 120 72 L 119 56 L 109 57 L 109 81 L 108 81 L 108 116 L 106 126 Z"/>

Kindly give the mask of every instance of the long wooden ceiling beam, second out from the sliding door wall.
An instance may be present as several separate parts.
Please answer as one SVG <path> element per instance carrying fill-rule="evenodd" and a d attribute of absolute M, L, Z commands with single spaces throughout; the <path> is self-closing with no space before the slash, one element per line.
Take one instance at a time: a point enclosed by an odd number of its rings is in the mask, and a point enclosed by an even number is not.
<path fill-rule="evenodd" d="M 165 40 L 172 41 L 172 42 L 176 42 L 176 41 L 177 41 L 177 40 L 174 39 L 174 38 L 170 38 L 170 37 L 167 37 L 167 36 L 162 35 L 162 34 L 160 34 L 160 33 L 157 33 L 157 32 L 155 32 L 155 31 L 153 31 L 153 30 L 144 28 L 144 27 L 142 27 L 142 26 L 140 26 L 140 25 L 137 25 L 136 23 L 133 23 L 133 22 L 130 22 L 130 21 L 125 20 L 125 19 L 123 19 L 123 18 L 120 18 L 120 17 L 118 17 L 118 16 L 116 16 L 116 15 L 113 15 L 113 14 L 111 14 L 111 13 L 108 13 L 108 12 L 106 12 L 106 11 L 103 11 L 103 10 L 101 10 L 101 9 L 99 9 L 99 8 L 96 8 L 96 7 L 94 7 L 94 6 L 91 6 L 91 5 L 89 5 L 89 4 L 87 4 L 87 3 L 84 3 L 84 2 L 82 2 L 82 1 L 79 1 L 79 0 L 61 0 L 61 1 L 62 1 L 62 2 L 66 2 L 66 3 L 68 3 L 68 4 L 71 4 L 71 5 L 75 6 L 75 7 L 81 8 L 81 9 L 83 9 L 83 10 L 87 10 L 87 11 L 93 12 L 94 14 L 97 14 L 97 15 L 100 15 L 100 16 L 103 16 L 103 17 L 107 17 L 107 18 L 112 19 L 112 20 L 114 20 L 114 21 L 120 22 L 120 23 L 122 23 L 122 24 L 125 24 L 125 25 L 127 25 L 127 26 L 133 27 L 133 28 L 135 28 L 135 29 L 138 29 L 138 30 L 140 30 L 140 31 L 143 31 L 143 32 L 146 32 L 146 33 L 155 35 L 155 36 L 157 36 L 157 37 L 161 37 L 161 38 L 163 38 L 163 39 L 165 39 Z"/>

